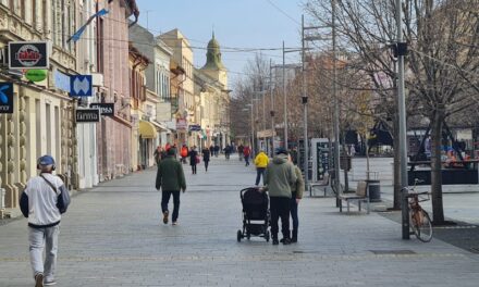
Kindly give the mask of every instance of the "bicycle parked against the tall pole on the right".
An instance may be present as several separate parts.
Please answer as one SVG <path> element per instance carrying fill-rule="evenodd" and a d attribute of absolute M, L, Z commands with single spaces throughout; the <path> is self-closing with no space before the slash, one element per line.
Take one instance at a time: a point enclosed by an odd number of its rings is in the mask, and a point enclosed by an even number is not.
<path fill-rule="evenodd" d="M 409 207 L 409 227 L 412 229 L 410 234 L 414 234 L 416 238 L 422 242 L 429 242 L 432 239 L 432 223 L 428 212 L 421 208 L 419 202 L 427 201 L 430 198 L 428 191 L 415 191 L 416 184 L 418 183 L 420 183 L 420 180 L 415 178 L 414 186 L 412 188 L 406 187 Z"/>

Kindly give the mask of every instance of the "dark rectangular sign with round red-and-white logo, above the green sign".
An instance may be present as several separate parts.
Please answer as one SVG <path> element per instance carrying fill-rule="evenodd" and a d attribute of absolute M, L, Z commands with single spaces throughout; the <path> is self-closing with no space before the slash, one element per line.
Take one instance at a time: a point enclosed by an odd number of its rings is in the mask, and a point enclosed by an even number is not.
<path fill-rule="evenodd" d="M 48 70 L 50 58 L 48 46 L 48 41 L 9 42 L 9 67 Z"/>

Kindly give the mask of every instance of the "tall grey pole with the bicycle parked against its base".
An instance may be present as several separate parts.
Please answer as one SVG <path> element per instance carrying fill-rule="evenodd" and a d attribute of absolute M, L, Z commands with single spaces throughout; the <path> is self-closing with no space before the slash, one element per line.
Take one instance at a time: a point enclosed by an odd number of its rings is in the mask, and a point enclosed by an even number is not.
<path fill-rule="evenodd" d="M 403 239 L 409 239 L 409 215 L 407 204 L 407 154 L 406 154 L 406 99 L 404 96 L 404 55 L 406 45 L 403 42 L 402 8 L 401 0 L 396 0 L 396 25 L 397 25 L 397 108 L 400 114 L 400 162 L 401 162 L 401 188 L 402 188 L 402 225 Z"/>

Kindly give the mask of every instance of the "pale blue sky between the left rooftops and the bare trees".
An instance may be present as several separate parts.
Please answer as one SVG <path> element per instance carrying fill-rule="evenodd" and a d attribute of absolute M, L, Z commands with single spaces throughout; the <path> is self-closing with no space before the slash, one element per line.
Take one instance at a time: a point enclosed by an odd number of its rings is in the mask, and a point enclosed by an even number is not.
<path fill-rule="evenodd" d="M 261 53 L 282 62 L 286 48 L 300 47 L 302 0 L 137 0 L 139 24 L 159 35 L 179 28 L 194 47 L 205 47 L 214 29 L 222 59 L 230 71 L 230 86 L 245 72 L 248 59 L 260 51 L 238 52 L 226 48 L 271 48 Z M 286 54 L 287 62 L 298 55 Z M 206 63 L 206 50 L 194 49 L 195 66 Z"/>

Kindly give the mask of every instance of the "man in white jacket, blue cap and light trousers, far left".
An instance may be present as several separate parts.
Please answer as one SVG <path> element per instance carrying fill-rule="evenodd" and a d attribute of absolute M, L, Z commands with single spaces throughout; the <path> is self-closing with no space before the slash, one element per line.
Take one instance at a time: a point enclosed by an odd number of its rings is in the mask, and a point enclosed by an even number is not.
<path fill-rule="evenodd" d="M 44 155 L 38 159 L 40 175 L 30 178 L 20 199 L 20 208 L 28 217 L 29 259 L 35 286 L 57 284 L 58 235 L 61 214 L 70 204 L 70 194 L 62 179 L 52 174 L 54 159 Z M 42 254 L 45 250 L 45 262 Z"/>

